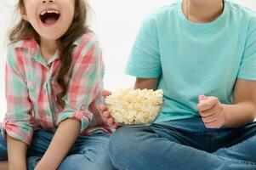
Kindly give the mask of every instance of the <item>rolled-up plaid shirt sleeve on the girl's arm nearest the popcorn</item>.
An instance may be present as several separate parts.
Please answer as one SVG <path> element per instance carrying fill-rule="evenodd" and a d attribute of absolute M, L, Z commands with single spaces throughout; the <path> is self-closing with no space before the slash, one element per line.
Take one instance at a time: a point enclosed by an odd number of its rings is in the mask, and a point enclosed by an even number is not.
<path fill-rule="evenodd" d="M 81 133 L 88 127 L 94 116 L 90 105 L 99 99 L 97 96 L 102 89 L 103 76 L 104 65 L 99 42 L 90 40 L 73 65 L 65 109 L 58 116 L 58 125 L 67 118 L 75 118 L 81 121 Z"/>

